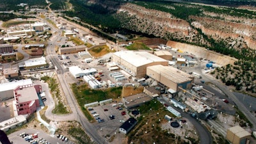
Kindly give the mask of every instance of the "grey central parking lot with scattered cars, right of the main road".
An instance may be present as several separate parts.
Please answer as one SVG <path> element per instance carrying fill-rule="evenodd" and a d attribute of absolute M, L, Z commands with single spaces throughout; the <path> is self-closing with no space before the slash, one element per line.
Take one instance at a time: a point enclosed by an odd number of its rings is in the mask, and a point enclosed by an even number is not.
<path fill-rule="evenodd" d="M 120 120 L 125 121 L 130 117 L 128 115 L 128 111 L 125 108 L 122 110 L 119 110 L 119 109 L 116 109 L 118 108 L 118 104 L 116 107 L 113 107 L 113 104 L 115 103 L 106 104 L 104 106 L 92 107 L 93 108 L 92 111 L 95 111 L 97 114 L 99 114 L 99 116 L 96 116 L 96 117 L 99 117 L 100 119 L 104 120 L 104 122 L 100 122 L 100 123 L 95 121 L 95 123 L 93 124 L 95 129 L 97 129 L 103 136 L 106 134 L 111 135 L 115 132 L 118 132 L 118 128 L 120 127 L 120 125 L 122 125 Z M 108 109 L 108 111 L 106 110 L 104 111 L 104 109 Z M 92 111 L 90 111 L 90 113 Z M 122 111 L 125 111 L 126 115 L 122 115 L 121 114 Z M 110 115 L 115 116 L 115 119 L 111 120 L 111 118 L 109 118 Z"/>

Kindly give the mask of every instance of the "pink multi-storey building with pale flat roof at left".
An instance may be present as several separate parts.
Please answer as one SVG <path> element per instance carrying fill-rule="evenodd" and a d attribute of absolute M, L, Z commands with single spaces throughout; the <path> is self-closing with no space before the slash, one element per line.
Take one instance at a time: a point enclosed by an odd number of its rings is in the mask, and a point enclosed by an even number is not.
<path fill-rule="evenodd" d="M 14 101 L 17 109 L 17 115 L 29 115 L 36 111 L 40 106 L 38 93 L 42 92 L 42 86 L 26 84 L 17 86 L 14 93 Z"/>

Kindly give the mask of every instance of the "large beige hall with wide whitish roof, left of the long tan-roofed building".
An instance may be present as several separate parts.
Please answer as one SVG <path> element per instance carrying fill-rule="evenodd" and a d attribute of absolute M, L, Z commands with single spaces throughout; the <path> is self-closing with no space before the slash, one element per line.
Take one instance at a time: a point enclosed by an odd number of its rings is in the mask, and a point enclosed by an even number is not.
<path fill-rule="evenodd" d="M 145 77 L 147 67 L 168 65 L 168 61 L 146 51 L 118 51 L 113 54 L 113 61 L 118 67 L 134 77 Z"/>

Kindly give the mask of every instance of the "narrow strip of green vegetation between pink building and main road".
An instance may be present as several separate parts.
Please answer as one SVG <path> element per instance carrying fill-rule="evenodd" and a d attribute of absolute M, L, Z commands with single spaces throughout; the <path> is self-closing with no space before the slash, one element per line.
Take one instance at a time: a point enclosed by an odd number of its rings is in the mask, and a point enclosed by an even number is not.
<path fill-rule="evenodd" d="M 41 79 L 49 84 L 52 97 L 57 101 L 55 108 L 52 110 L 52 113 L 60 115 L 69 113 L 67 107 L 63 104 L 63 101 L 61 100 L 62 98 L 60 95 L 60 88 L 56 79 L 48 76 L 41 77 Z"/>

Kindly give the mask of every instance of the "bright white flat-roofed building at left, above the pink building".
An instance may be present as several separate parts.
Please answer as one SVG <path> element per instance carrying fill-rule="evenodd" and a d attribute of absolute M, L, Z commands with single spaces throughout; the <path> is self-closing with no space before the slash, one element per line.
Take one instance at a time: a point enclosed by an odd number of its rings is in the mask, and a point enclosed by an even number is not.
<path fill-rule="evenodd" d="M 29 60 L 24 61 L 24 65 L 19 65 L 19 67 L 23 67 L 25 69 L 35 68 L 35 67 L 45 67 L 47 65 L 46 59 L 44 56 L 40 58 L 31 58 Z"/>

